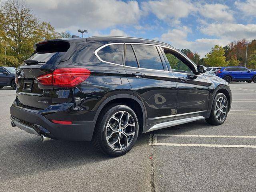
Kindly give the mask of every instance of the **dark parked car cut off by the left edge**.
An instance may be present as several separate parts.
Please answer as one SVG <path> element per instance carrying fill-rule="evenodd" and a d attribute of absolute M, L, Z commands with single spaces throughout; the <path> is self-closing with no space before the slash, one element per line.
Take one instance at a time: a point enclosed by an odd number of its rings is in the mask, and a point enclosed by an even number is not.
<path fill-rule="evenodd" d="M 13 89 L 16 89 L 14 67 L 0 66 L 0 89 L 4 86 L 11 86 Z"/>

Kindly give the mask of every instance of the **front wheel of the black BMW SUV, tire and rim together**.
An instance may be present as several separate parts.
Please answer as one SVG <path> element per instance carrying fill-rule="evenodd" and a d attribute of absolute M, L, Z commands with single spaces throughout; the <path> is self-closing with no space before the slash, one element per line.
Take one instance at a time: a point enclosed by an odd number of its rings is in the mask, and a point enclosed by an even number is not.
<path fill-rule="evenodd" d="M 212 125 L 221 125 L 225 122 L 228 115 L 228 100 L 223 93 L 216 94 L 212 103 L 210 117 L 206 122 Z"/>

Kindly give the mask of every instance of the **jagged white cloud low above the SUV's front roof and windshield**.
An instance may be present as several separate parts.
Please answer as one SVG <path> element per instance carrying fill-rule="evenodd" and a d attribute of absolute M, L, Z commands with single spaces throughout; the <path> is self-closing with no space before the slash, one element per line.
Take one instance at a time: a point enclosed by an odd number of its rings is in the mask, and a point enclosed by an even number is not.
<path fill-rule="evenodd" d="M 167 33 L 162 34 L 160 38 L 155 38 L 156 40 L 161 40 L 163 42 L 170 42 L 172 46 L 178 49 L 190 49 L 192 52 L 198 52 L 201 57 L 204 57 L 211 48 L 219 44 L 220 46 L 225 46 L 229 43 L 225 39 L 209 39 L 201 38 L 195 41 L 188 41 L 188 33 L 192 32 L 190 28 L 183 26 L 179 29 L 168 30 Z"/>

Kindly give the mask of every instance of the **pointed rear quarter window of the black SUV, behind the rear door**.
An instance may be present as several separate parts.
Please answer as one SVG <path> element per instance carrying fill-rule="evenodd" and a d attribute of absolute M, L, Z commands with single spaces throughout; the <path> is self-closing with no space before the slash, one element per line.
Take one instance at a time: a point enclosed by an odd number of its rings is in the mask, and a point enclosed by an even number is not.
<path fill-rule="evenodd" d="M 106 62 L 111 62 L 115 64 L 122 64 L 123 60 L 123 44 L 118 45 L 108 45 L 98 51 L 98 56 Z"/>

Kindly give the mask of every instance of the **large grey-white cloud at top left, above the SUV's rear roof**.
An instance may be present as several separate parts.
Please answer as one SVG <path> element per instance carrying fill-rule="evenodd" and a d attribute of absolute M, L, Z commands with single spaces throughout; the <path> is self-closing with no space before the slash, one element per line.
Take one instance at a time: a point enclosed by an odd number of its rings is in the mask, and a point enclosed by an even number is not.
<path fill-rule="evenodd" d="M 26 0 L 33 12 L 57 30 L 100 30 L 116 25 L 138 24 L 138 2 L 119 0 Z"/>

